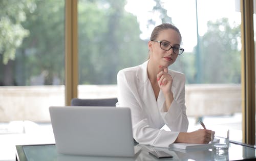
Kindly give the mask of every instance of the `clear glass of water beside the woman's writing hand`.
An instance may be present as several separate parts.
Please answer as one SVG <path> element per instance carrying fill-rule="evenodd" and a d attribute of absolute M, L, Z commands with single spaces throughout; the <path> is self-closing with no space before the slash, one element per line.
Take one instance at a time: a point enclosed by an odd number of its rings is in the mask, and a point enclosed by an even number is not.
<path fill-rule="evenodd" d="M 215 131 L 211 136 L 212 151 L 222 154 L 228 152 L 229 130 Z"/>

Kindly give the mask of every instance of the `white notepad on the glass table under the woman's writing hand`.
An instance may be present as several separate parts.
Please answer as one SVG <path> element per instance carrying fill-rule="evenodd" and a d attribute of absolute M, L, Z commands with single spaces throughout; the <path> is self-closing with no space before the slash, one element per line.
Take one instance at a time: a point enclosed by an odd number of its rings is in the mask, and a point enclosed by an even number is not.
<path fill-rule="evenodd" d="M 187 144 L 187 143 L 174 143 L 169 146 L 170 148 L 178 149 L 208 149 L 211 148 L 211 144 Z"/>

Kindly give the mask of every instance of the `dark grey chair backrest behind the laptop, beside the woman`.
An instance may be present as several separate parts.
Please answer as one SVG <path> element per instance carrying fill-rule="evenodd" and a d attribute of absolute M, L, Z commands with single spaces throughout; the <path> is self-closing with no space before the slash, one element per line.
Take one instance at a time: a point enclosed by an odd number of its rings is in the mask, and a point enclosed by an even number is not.
<path fill-rule="evenodd" d="M 117 98 L 78 99 L 71 100 L 71 106 L 116 106 Z"/>

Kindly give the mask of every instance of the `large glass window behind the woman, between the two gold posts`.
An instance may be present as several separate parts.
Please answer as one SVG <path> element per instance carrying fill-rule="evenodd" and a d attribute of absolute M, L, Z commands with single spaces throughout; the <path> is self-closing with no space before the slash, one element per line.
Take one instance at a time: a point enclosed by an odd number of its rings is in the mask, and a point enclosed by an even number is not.
<path fill-rule="evenodd" d="M 188 131 L 202 128 L 203 120 L 209 129 L 228 128 L 230 139 L 241 141 L 239 3 L 80 0 L 78 96 L 116 97 L 117 72 L 144 62 L 153 28 L 170 22 L 185 49 L 170 68 L 186 75 Z"/>

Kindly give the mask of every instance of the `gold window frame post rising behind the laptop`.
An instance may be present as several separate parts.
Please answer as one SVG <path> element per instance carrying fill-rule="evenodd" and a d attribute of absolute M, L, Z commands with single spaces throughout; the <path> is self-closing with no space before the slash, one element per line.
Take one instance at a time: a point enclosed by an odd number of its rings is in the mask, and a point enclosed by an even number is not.
<path fill-rule="evenodd" d="M 66 0 L 65 15 L 65 104 L 70 105 L 78 86 L 77 0 Z"/>

